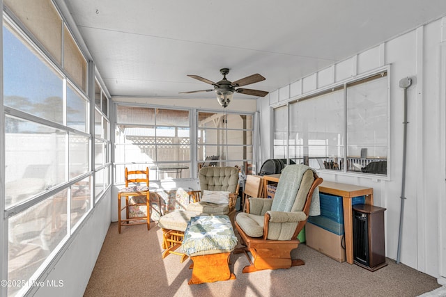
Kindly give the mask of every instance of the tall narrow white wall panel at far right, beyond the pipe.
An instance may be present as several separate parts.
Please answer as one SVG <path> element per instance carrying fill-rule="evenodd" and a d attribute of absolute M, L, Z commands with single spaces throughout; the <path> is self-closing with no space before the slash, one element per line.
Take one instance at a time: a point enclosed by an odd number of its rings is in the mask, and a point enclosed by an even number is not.
<path fill-rule="evenodd" d="M 418 126 L 420 127 L 418 134 L 423 138 L 423 141 L 417 142 L 421 147 L 418 150 L 418 155 L 422 151 L 423 156 L 418 164 L 418 167 L 423 170 L 423 179 L 420 180 L 422 184 L 417 191 L 417 217 L 419 222 L 422 222 L 418 225 L 420 241 L 418 241 L 419 255 L 417 259 L 420 270 L 431 275 L 440 269 L 437 256 L 440 252 L 438 234 L 441 232 L 441 227 L 445 226 L 438 223 L 440 217 L 435 211 L 440 207 L 438 193 L 442 193 L 441 186 L 445 185 L 445 167 L 441 163 L 445 152 L 442 150 L 440 142 L 443 136 L 441 123 L 444 117 L 442 111 L 444 97 L 440 95 L 438 86 L 438 78 L 443 77 L 440 67 L 438 67 L 443 62 L 440 58 L 441 48 L 439 47 L 441 22 L 432 22 L 424 26 L 423 36 L 424 54 L 421 58 L 423 69 L 428 71 L 423 71 L 423 88 L 417 90 L 417 102 L 422 105 L 422 109 L 417 108 L 422 110 L 422 125 Z M 443 193 L 445 193 L 444 190 Z M 443 199 L 444 197 L 445 195 L 443 195 Z"/>

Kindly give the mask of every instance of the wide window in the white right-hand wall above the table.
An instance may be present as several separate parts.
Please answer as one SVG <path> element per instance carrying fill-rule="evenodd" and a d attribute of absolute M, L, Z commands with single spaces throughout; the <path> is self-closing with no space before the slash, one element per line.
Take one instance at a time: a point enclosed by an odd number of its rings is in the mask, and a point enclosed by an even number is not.
<path fill-rule="evenodd" d="M 385 71 L 280 106 L 274 122 L 274 158 L 324 170 L 387 174 Z"/>

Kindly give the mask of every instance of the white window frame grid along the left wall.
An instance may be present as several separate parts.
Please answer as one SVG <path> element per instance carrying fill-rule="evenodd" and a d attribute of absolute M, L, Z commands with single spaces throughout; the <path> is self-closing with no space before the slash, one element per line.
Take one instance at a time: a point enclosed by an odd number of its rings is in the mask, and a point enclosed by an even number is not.
<path fill-rule="evenodd" d="M 87 61 L 86 55 L 84 51 L 82 51 L 82 48 L 79 46 L 79 43 L 72 35 L 72 32 L 70 31 L 69 24 L 66 22 L 66 19 L 64 19 L 63 15 L 61 14 L 59 7 L 56 6 L 54 1 L 48 0 L 47 3 L 49 5 L 54 6 L 54 10 L 58 13 L 60 19 L 61 19 L 61 33 L 62 30 L 64 30 L 65 33 L 70 34 L 70 37 L 75 42 L 75 49 L 79 51 L 77 54 L 79 56 L 82 56 L 83 61 Z M 84 225 L 87 221 L 87 218 L 91 216 L 92 211 L 95 207 L 95 204 L 103 197 L 109 193 L 110 189 L 112 188 L 111 183 L 111 175 L 112 175 L 112 163 L 110 162 L 111 154 L 110 152 L 110 131 L 108 131 L 108 135 L 102 139 L 102 141 L 105 141 L 107 143 L 107 156 L 105 156 L 105 163 L 100 168 L 95 168 L 95 161 L 94 161 L 94 143 L 95 143 L 95 134 L 94 134 L 94 90 L 93 95 L 91 95 L 91 84 L 92 84 L 92 77 L 94 77 L 94 64 L 93 63 L 84 63 L 81 66 L 82 75 L 86 77 L 86 85 L 81 86 L 82 88 L 79 88 L 79 85 L 72 79 L 71 75 L 64 69 L 63 63 L 64 61 L 57 61 L 54 56 L 45 48 L 43 43 L 41 43 L 36 36 L 34 36 L 29 29 L 26 28 L 26 25 L 21 22 L 19 17 L 15 16 L 11 10 L 8 9 L 7 6 L 3 5 L 3 11 L 2 11 L 2 26 L 7 26 L 8 30 L 14 31 L 14 34 L 16 37 L 20 40 L 20 42 L 24 43 L 24 45 L 30 50 L 33 51 L 38 58 L 40 58 L 42 61 L 45 62 L 46 67 L 49 67 L 52 71 L 56 72 L 61 77 L 61 88 L 63 88 L 63 122 L 62 123 L 56 123 L 52 122 L 51 120 L 46 120 L 45 118 L 41 118 L 40 115 L 34 115 L 31 113 L 26 113 L 25 111 L 20 111 L 14 108 L 10 108 L 8 106 L 3 105 L 3 96 L 0 99 L 0 112 L 2 114 L 1 118 L 1 135 L 0 135 L 0 141 L 1 143 L 5 143 L 6 141 L 6 135 L 5 135 L 5 118 L 6 116 L 12 116 L 18 119 L 30 121 L 39 125 L 45 125 L 47 127 L 50 127 L 52 129 L 59 129 L 62 132 L 66 134 L 66 141 L 68 141 L 68 134 L 75 133 L 77 135 L 85 136 L 88 139 L 88 149 L 86 154 L 88 154 L 88 159 L 85 161 L 86 163 L 86 172 L 82 172 L 80 175 L 77 175 L 75 177 L 70 178 L 68 175 L 70 172 L 69 168 L 69 161 L 68 161 L 68 152 L 69 147 L 67 144 L 65 155 L 66 155 L 66 169 L 64 170 L 66 178 L 64 182 L 61 182 L 59 184 L 56 184 L 52 188 L 47 188 L 45 191 L 38 193 L 36 195 L 32 195 L 29 198 L 26 198 L 26 200 L 18 203 L 18 204 L 12 204 L 6 208 L 5 201 L 3 200 L 0 206 L 0 211 L 3 214 L 3 217 L 1 218 L 1 229 L 0 229 L 0 239 L 1 239 L 1 246 L 0 250 L 2 251 L 0 253 L 1 262 L 3 263 L 2 269 L 0 271 L 0 278 L 3 280 L 8 279 L 9 275 L 9 266 L 8 266 L 8 255 L 9 255 L 9 244 L 8 243 L 8 229 L 9 229 L 9 222 L 10 218 L 13 216 L 17 217 L 20 214 L 25 214 L 24 211 L 27 209 L 31 209 L 31 207 L 34 207 L 41 202 L 45 202 L 49 199 L 52 199 L 52 196 L 60 194 L 60 193 L 66 193 L 66 203 L 68 207 L 66 207 L 66 214 L 63 214 L 63 216 L 67 217 L 66 220 L 66 230 L 67 234 L 66 236 L 61 239 L 61 241 L 57 241 L 57 245 L 50 250 L 49 255 L 46 255 L 42 259 L 39 259 L 39 261 L 42 261 L 38 268 L 34 268 L 34 270 L 31 271 L 31 276 L 29 278 L 29 282 L 32 283 L 33 281 L 40 280 L 43 278 L 43 275 L 45 273 L 48 273 L 49 270 L 51 270 L 54 267 L 54 264 L 56 263 L 55 259 L 59 257 L 63 252 L 65 252 L 68 249 L 68 246 L 70 243 L 75 239 L 75 236 L 80 229 L 82 225 Z M 63 33 L 62 33 L 63 34 Z M 63 51 L 63 40 L 60 45 L 60 50 Z M 63 56 L 62 56 L 63 59 Z M 2 62 L 3 63 L 3 62 Z M 85 68 L 86 67 L 86 68 Z M 79 68 L 80 69 L 80 68 Z M 100 80 L 102 82 L 102 80 Z M 70 127 L 67 122 L 67 88 L 72 88 L 72 90 L 75 91 L 75 93 L 78 93 L 82 99 L 86 101 L 86 127 L 84 127 L 84 131 L 79 131 L 75 129 L 75 127 Z M 108 109 L 109 106 L 109 97 L 106 95 L 104 89 L 101 88 L 102 93 L 102 104 L 105 102 L 106 109 Z M 106 111 L 107 112 L 107 111 Z M 103 112 L 101 112 L 102 118 L 105 118 L 105 120 L 109 123 L 109 118 L 107 115 L 105 115 Z M 111 126 L 108 125 L 108 130 Z M 2 147 L 2 152 L 0 152 L 0 163 L 6 163 L 6 155 L 5 155 L 5 146 Z M 98 195 L 95 195 L 95 172 L 98 170 L 106 170 L 107 171 L 107 177 L 105 177 L 105 185 L 104 185 L 104 191 L 102 193 L 99 193 Z M 6 171 L 5 168 L 1 168 L 0 171 L 0 177 L 5 180 Z M 82 198 L 85 198 L 88 200 L 89 206 L 85 208 L 85 211 L 82 210 L 81 213 L 79 213 L 79 216 L 77 218 L 77 221 L 74 225 L 72 225 L 70 220 L 70 211 L 72 211 L 72 207 L 70 207 L 70 203 L 72 203 L 72 197 L 74 197 L 73 194 L 73 188 L 77 187 L 79 188 L 79 183 L 82 184 L 82 182 L 88 181 L 89 187 L 86 188 L 86 190 L 82 194 Z M 4 184 L 0 185 L 0 193 L 4 194 L 6 191 Z M 81 201 L 82 203 L 82 201 Z M 64 227 L 65 228 L 65 227 Z M 24 281 L 24 280 L 23 280 Z M 36 291 L 36 287 L 32 286 L 25 286 L 22 288 L 19 288 L 19 291 L 14 291 L 12 293 L 18 294 L 20 296 L 26 295 L 26 294 L 32 294 L 32 292 Z M 8 287 L 1 287 L 0 288 L 0 295 L 7 296 L 11 292 L 8 293 Z M 18 296 L 17 295 L 17 296 Z"/>

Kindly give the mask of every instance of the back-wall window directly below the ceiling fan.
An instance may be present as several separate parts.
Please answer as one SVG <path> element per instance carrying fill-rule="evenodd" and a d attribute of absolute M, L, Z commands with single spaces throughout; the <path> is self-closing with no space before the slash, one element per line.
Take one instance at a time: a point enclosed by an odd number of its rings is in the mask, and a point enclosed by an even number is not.
<path fill-rule="evenodd" d="M 252 163 L 252 115 L 198 112 L 197 161 L 200 166 Z"/>

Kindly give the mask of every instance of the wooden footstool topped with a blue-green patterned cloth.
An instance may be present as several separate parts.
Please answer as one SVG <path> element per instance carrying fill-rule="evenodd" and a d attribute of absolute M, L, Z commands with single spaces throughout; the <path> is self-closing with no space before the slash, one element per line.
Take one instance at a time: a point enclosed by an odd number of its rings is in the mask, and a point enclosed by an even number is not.
<path fill-rule="evenodd" d="M 237 245 L 229 216 L 195 216 L 184 233 L 181 249 L 192 259 L 189 284 L 233 280 L 229 256 Z"/>

